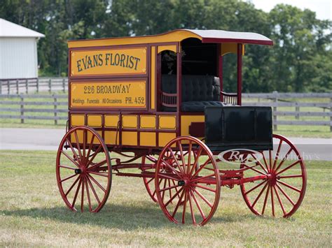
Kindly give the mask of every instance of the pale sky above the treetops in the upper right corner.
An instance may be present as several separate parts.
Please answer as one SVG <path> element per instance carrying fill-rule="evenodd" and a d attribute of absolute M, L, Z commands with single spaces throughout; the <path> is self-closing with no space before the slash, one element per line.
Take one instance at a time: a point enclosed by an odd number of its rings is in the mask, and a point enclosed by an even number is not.
<path fill-rule="evenodd" d="M 332 0 L 251 0 L 251 2 L 256 8 L 265 12 L 270 12 L 278 3 L 286 3 L 300 9 L 308 8 L 314 11 L 320 20 L 332 20 Z"/>

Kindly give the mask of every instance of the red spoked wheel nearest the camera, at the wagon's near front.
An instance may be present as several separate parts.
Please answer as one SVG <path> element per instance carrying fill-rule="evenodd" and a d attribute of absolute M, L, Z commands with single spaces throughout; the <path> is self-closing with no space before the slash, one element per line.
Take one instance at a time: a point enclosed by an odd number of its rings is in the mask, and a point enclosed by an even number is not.
<path fill-rule="evenodd" d="M 178 156 L 175 149 L 179 149 Z M 170 221 L 206 224 L 218 207 L 220 187 L 216 161 L 202 141 L 183 136 L 162 149 L 155 170 L 155 189 Z"/>

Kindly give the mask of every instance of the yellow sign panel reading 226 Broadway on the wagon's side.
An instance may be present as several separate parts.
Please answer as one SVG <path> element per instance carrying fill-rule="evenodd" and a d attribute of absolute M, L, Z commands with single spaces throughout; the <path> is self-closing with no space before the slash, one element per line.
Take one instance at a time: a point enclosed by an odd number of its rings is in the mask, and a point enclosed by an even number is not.
<path fill-rule="evenodd" d="M 146 108 L 146 81 L 71 82 L 71 108 Z"/>

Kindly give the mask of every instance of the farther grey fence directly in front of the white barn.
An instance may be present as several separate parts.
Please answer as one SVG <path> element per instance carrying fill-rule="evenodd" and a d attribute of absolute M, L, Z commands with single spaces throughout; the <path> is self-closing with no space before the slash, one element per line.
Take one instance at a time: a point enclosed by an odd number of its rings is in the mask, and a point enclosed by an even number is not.
<path fill-rule="evenodd" d="M 67 92 L 68 78 L 0 79 L 0 94 Z"/>

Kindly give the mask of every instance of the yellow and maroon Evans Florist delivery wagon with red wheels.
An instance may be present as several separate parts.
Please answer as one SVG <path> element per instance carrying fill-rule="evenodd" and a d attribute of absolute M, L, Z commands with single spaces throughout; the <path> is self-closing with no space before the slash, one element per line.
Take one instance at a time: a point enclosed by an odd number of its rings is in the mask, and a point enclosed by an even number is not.
<path fill-rule="evenodd" d="M 296 212 L 305 194 L 303 159 L 272 135 L 271 108 L 241 106 L 247 44 L 272 41 L 187 29 L 69 41 L 68 130 L 56 161 L 64 203 L 98 212 L 118 175 L 142 177 L 175 223 L 206 224 L 221 186 L 240 185 L 254 214 Z M 235 94 L 223 89 L 228 53 L 237 54 Z"/>

